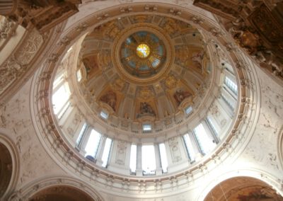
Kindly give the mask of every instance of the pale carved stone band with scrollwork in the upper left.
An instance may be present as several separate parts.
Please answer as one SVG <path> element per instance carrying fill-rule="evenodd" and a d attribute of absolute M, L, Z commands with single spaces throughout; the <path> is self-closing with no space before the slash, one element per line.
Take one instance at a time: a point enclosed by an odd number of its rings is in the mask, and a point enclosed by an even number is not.
<path fill-rule="evenodd" d="M 0 66 L 0 106 L 40 67 L 42 60 L 46 59 L 44 55 L 48 54 L 54 41 L 58 40 L 62 27 L 64 24 L 45 34 L 40 34 L 37 30 L 25 32 L 21 42 Z"/>

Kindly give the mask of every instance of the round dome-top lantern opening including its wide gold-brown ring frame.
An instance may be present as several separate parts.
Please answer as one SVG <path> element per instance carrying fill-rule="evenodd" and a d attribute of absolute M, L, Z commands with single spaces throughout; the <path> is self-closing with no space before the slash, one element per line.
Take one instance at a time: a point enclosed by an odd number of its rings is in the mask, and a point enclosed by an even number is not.
<path fill-rule="evenodd" d="M 113 43 L 117 73 L 132 84 L 149 85 L 166 76 L 174 62 L 170 35 L 158 25 L 138 23 L 122 30 Z"/>

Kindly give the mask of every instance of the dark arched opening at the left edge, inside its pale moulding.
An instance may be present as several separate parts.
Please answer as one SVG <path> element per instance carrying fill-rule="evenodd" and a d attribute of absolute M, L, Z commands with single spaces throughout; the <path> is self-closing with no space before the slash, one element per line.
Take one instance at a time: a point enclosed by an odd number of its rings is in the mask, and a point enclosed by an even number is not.
<path fill-rule="evenodd" d="M 12 157 L 7 147 L 0 143 L 0 197 L 4 196 L 13 171 Z"/>

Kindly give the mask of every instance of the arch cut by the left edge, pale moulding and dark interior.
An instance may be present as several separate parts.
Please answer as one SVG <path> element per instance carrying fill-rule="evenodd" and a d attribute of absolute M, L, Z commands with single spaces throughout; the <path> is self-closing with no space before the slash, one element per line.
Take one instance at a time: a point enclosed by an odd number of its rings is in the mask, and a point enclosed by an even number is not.
<path fill-rule="evenodd" d="M 16 145 L 6 134 L 0 132 L 0 200 L 13 191 L 18 182 L 20 161 Z"/>

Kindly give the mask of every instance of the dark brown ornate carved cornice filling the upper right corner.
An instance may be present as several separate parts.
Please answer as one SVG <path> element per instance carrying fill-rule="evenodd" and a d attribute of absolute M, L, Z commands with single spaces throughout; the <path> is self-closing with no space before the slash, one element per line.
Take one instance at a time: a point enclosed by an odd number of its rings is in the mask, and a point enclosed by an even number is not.
<path fill-rule="evenodd" d="M 265 0 L 233 3 L 218 0 L 194 1 L 195 6 L 220 16 L 219 22 L 231 34 L 236 45 L 250 54 L 251 59 L 282 85 L 283 26 L 282 18 L 275 12 L 282 13 L 282 2 L 271 4 Z"/>

